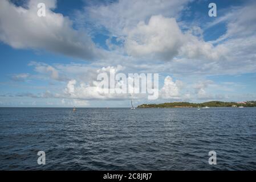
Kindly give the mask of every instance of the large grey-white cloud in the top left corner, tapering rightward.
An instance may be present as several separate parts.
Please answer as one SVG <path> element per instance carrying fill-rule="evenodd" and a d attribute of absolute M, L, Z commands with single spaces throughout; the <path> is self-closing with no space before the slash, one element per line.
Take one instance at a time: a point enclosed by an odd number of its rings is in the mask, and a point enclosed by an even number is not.
<path fill-rule="evenodd" d="M 46 4 L 45 17 L 37 15 L 38 3 Z M 74 30 L 68 17 L 52 11 L 55 7 L 55 0 L 29 1 L 27 9 L 2 0 L 0 40 L 13 48 L 43 49 L 85 60 L 103 57 L 104 51 L 88 35 Z"/>

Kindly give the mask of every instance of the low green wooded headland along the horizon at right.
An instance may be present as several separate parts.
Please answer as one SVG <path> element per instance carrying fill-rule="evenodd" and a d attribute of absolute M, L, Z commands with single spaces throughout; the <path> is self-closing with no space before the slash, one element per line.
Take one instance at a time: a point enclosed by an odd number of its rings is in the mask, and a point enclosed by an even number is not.
<path fill-rule="evenodd" d="M 210 101 L 204 103 L 190 103 L 190 102 L 167 102 L 163 104 L 143 104 L 137 106 L 138 108 L 170 108 L 170 107 L 256 107 L 256 101 L 247 102 L 221 102 Z"/>

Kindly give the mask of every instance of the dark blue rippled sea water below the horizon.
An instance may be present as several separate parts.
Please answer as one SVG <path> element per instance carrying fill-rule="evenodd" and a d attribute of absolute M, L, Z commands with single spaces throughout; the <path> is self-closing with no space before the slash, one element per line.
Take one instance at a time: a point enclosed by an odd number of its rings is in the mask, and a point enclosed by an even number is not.
<path fill-rule="evenodd" d="M 0 169 L 255 170 L 256 108 L 0 108 Z"/>

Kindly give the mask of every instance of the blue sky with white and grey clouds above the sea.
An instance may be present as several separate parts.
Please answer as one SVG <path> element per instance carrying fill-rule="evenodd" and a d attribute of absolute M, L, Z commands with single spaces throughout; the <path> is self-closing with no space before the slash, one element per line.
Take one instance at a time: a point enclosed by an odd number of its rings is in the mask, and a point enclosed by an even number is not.
<path fill-rule="evenodd" d="M 209 16 L 209 3 L 217 16 Z M 38 3 L 46 16 L 38 16 Z M 0 0 L 0 107 L 256 100 L 256 2 Z M 97 75 L 158 73 L 159 98 Z"/>

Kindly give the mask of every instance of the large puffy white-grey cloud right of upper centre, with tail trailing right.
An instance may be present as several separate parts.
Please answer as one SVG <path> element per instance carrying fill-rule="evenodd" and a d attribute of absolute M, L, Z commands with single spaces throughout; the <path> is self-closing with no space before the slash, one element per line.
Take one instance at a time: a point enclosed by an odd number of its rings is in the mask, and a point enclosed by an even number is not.
<path fill-rule="evenodd" d="M 172 60 L 174 56 L 185 56 L 189 59 L 218 60 L 227 52 L 226 47 L 214 47 L 191 32 L 184 34 L 176 19 L 162 15 L 151 16 L 147 24 L 140 22 L 126 32 L 125 49 L 128 55 L 135 57 Z"/>

